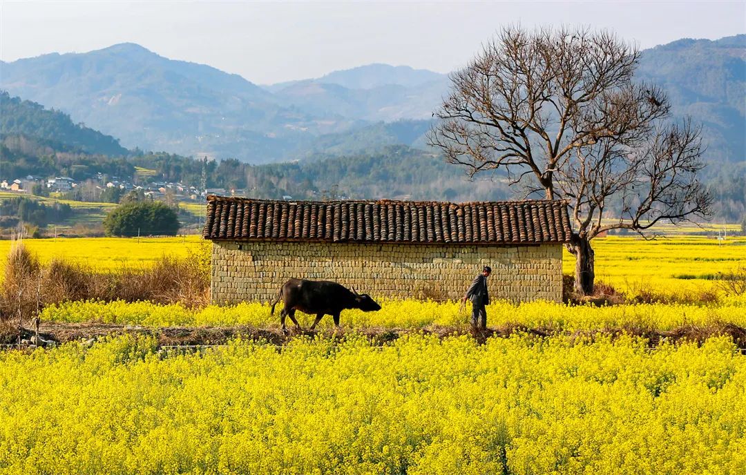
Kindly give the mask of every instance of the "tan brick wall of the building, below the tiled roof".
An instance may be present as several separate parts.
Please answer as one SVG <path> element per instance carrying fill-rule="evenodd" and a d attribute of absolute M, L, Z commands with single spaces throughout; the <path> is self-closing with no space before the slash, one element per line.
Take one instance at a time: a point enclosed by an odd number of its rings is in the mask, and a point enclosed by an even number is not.
<path fill-rule="evenodd" d="M 483 265 L 490 297 L 562 300 L 562 246 L 213 242 L 213 303 L 274 300 L 291 277 L 373 297 L 460 298 Z"/>

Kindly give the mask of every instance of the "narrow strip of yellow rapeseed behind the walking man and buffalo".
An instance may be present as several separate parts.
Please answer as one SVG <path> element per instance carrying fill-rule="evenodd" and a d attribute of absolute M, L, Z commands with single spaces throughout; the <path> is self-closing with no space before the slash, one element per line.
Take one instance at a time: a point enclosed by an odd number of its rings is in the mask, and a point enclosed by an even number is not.
<path fill-rule="evenodd" d="M 456 327 L 468 323 L 467 310 L 456 302 L 380 301 L 378 312 L 345 310 L 342 325 L 347 328 L 421 328 L 430 325 Z M 251 325 L 279 327 L 279 309 L 270 315 L 267 303 L 240 303 L 236 306 L 210 305 L 204 309 L 187 309 L 181 305 L 156 305 L 149 302 L 67 302 L 43 309 L 43 321 L 100 321 L 114 324 L 137 324 L 149 327 Z M 746 327 L 746 298 L 728 298 L 718 305 L 684 305 L 679 303 L 639 303 L 614 306 L 570 306 L 553 302 L 494 302 L 487 306 L 490 327 L 519 324 L 549 330 L 604 330 L 640 327 L 671 330 L 683 325 L 706 327 L 727 322 Z M 314 315 L 296 314 L 304 327 Z M 332 327 L 327 316 L 321 327 Z"/>

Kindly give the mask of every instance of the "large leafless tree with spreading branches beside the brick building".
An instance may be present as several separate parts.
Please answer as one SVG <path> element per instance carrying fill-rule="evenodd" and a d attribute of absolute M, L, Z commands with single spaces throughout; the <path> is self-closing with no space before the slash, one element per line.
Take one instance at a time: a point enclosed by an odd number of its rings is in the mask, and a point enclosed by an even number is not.
<path fill-rule="evenodd" d="M 593 292 L 591 240 L 706 217 L 701 130 L 668 123 L 662 89 L 634 81 L 639 50 L 587 28 L 502 29 L 434 114 L 430 145 L 468 175 L 502 169 L 524 198 L 567 200 L 575 289 Z M 605 219 L 614 207 L 617 216 Z"/>

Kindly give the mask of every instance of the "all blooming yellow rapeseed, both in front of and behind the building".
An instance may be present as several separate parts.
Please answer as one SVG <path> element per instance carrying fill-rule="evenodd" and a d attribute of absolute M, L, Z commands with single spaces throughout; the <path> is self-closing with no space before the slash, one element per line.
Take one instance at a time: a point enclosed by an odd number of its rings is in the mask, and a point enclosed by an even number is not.
<path fill-rule="evenodd" d="M 187 257 L 198 236 L 28 239 L 48 262 L 98 269 Z M 700 292 L 746 264 L 746 238 L 595 240 L 598 279 L 618 290 Z M 10 242 L 0 242 L 5 256 Z M 573 257 L 565 256 L 565 273 Z M 746 356 L 727 336 L 662 342 L 607 329 L 746 327 L 746 296 L 718 303 L 488 306 L 471 336 L 408 333 L 381 347 L 355 329 L 466 328 L 456 302 L 383 300 L 342 313 L 345 339 L 283 347 L 238 339 L 195 353 L 109 337 L 0 351 L 0 474 L 744 474 Z M 279 310 L 279 309 L 278 309 Z M 277 330 L 267 303 L 73 301 L 41 320 Z M 308 327 L 310 315 L 297 314 Z M 331 318 L 322 328 L 332 327 Z M 352 330 L 352 331 L 350 331 Z M 601 330 L 593 339 L 586 330 Z M 442 332 L 441 332 L 442 333 Z"/>

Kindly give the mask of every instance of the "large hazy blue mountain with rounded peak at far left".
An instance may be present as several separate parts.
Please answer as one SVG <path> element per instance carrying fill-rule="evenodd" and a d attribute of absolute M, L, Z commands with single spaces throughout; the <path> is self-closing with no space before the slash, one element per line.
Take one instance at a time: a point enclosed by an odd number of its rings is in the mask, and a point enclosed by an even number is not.
<path fill-rule="evenodd" d="M 228 156 L 241 144 L 252 152 L 246 158 L 271 161 L 314 126 L 308 114 L 283 109 L 238 75 L 133 44 L 5 63 L 1 81 L 13 94 L 64 110 L 130 148 Z"/>

